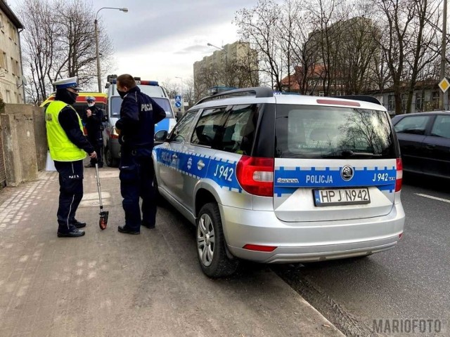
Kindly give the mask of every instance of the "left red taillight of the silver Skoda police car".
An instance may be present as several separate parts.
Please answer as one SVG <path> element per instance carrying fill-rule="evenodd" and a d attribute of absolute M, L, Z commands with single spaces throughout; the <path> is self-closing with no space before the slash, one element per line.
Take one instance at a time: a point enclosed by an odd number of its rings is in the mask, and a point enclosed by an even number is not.
<path fill-rule="evenodd" d="M 274 196 L 274 159 L 242 156 L 236 167 L 240 186 L 250 194 Z"/>

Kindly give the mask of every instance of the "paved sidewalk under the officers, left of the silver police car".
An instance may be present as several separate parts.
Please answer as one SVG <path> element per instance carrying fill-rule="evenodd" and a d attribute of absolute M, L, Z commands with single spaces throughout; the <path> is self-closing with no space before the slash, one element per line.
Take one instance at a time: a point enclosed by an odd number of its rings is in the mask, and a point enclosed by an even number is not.
<path fill-rule="evenodd" d="M 140 235 L 124 220 L 118 170 L 84 171 L 81 238 L 56 237 L 58 173 L 0 191 L 0 336 L 343 336 L 266 266 L 203 275 L 195 231 L 171 207 Z"/>

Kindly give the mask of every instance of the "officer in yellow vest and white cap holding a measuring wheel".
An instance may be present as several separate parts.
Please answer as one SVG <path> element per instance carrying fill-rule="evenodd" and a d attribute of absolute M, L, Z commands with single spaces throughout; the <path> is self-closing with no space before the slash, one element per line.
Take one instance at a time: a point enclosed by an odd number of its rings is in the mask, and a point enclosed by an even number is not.
<path fill-rule="evenodd" d="M 53 83 L 55 100 L 46 109 L 50 156 L 59 173 L 58 237 L 82 237 L 86 223 L 75 219 L 83 197 L 83 159 L 96 158 L 94 147 L 83 134 L 82 121 L 72 104 L 78 96 L 77 77 Z"/>

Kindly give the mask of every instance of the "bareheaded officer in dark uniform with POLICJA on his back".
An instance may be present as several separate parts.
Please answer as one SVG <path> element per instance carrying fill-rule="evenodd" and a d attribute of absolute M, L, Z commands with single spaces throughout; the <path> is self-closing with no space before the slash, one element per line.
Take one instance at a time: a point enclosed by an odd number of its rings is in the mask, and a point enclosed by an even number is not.
<path fill-rule="evenodd" d="M 117 77 L 117 92 L 122 97 L 120 119 L 115 128 L 120 134 L 120 192 L 124 198 L 125 224 L 118 230 L 139 234 L 141 225 L 154 228 L 156 204 L 153 190 L 153 137 L 155 124 L 166 117 L 162 109 L 148 95 L 141 93 L 129 74 Z M 139 209 L 142 198 L 142 221 Z"/>

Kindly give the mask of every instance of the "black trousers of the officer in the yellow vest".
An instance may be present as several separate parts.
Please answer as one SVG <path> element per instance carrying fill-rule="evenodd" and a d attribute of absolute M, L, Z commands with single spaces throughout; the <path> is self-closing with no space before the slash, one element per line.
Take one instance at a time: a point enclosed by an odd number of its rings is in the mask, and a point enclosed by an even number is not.
<path fill-rule="evenodd" d="M 83 198 L 83 161 L 55 161 L 59 173 L 58 232 L 74 229 L 75 213 Z"/>

